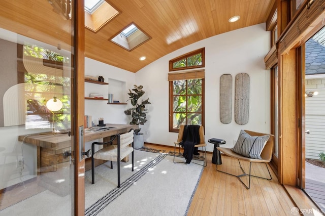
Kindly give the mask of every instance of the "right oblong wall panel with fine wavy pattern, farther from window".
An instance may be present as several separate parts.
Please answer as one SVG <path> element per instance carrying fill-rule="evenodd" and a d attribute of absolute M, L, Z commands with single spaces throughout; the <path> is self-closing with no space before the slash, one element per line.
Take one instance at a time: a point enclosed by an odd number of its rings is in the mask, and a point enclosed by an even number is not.
<path fill-rule="evenodd" d="M 249 115 L 249 75 L 239 73 L 235 79 L 235 121 L 247 124 Z"/>

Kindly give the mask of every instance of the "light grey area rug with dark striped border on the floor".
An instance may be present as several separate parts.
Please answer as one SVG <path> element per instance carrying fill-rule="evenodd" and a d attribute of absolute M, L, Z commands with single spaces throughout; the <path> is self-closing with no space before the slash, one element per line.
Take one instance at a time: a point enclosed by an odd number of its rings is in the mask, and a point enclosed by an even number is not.
<path fill-rule="evenodd" d="M 86 172 L 85 215 L 186 215 L 203 171 L 198 164 L 173 163 L 169 154 L 136 150 L 135 171 L 131 158 L 123 163 L 116 188 L 116 163 L 113 167 L 97 166 L 93 185 L 91 171 Z"/>

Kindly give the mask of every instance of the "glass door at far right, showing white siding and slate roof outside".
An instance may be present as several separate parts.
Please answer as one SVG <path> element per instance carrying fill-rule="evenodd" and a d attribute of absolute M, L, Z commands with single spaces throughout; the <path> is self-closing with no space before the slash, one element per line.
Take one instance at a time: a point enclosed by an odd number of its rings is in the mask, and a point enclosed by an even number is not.
<path fill-rule="evenodd" d="M 302 158 L 305 161 L 302 187 L 325 212 L 325 28 L 305 44 L 305 114 Z"/>

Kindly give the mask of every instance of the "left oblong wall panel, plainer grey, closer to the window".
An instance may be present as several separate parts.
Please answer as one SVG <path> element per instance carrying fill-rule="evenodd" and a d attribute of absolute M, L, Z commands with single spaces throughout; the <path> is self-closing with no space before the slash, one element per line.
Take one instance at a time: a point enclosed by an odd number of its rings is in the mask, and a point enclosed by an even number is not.
<path fill-rule="evenodd" d="M 232 121 L 232 82 L 231 74 L 220 76 L 220 121 L 224 124 L 229 124 Z"/>

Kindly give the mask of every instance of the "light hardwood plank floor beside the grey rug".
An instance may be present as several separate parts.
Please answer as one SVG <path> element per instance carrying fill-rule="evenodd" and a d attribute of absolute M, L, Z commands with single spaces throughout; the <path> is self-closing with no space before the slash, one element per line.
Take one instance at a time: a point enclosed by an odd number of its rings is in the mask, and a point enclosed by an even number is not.
<path fill-rule="evenodd" d="M 174 150 L 166 146 L 146 147 Z M 216 165 L 211 162 L 211 153 L 208 153 L 207 158 L 208 164 L 187 215 L 293 215 L 290 210 L 296 205 L 284 187 L 278 183 L 271 169 L 272 180 L 253 177 L 250 189 L 247 190 L 236 177 L 215 169 Z M 242 166 L 248 170 L 248 163 L 242 163 Z M 238 161 L 230 157 L 222 156 L 222 165 L 219 168 L 236 175 L 241 174 Z M 252 168 L 253 175 L 267 177 L 268 172 L 264 164 L 253 164 Z"/>

